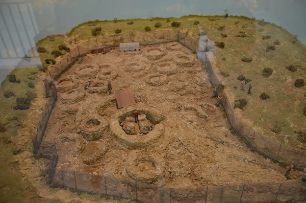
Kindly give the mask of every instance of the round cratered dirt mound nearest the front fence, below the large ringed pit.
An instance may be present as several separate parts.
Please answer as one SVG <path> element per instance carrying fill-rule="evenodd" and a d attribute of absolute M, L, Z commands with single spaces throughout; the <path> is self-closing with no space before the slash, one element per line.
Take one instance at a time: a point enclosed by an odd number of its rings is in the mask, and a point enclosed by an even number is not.
<path fill-rule="evenodd" d="M 133 151 L 126 161 L 125 172 L 135 181 L 152 184 L 164 178 L 165 166 L 163 157 L 158 153 L 146 155 L 142 151 Z"/>

